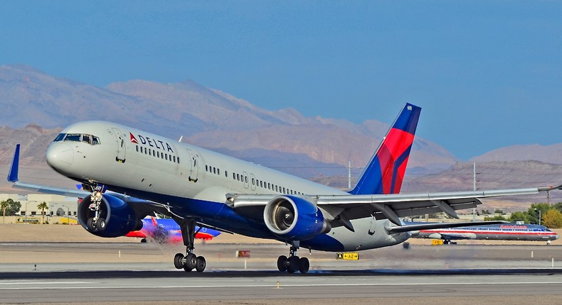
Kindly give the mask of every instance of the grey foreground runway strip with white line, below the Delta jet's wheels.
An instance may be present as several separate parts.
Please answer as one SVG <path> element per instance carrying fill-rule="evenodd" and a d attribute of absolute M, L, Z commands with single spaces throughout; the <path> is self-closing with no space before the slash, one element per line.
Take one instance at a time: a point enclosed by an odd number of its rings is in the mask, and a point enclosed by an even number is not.
<path fill-rule="evenodd" d="M 235 272 L 219 276 L 127 273 L 79 279 L 49 276 L 0 280 L 6 303 L 379 299 L 390 297 L 546 296 L 562 298 L 562 275 L 280 275 Z M 209 273 L 216 275 L 215 272 Z M 277 283 L 279 287 L 277 287 Z"/>

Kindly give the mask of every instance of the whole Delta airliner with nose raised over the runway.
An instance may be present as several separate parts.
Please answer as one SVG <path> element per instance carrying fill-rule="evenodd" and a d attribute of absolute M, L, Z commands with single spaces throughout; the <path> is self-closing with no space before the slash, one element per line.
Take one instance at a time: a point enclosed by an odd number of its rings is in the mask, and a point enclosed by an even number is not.
<path fill-rule="evenodd" d="M 19 145 L 8 180 L 33 192 L 84 197 L 78 220 L 101 237 L 139 231 L 149 214 L 173 218 L 186 246 L 185 254 L 174 256 L 174 267 L 186 272 L 206 269 L 205 257 L 194 253 L 196 225 L 286 243 L 289 255 L 277 257 L 277 269 L 306 273 L 309 260 L 297 255 L 299 248 L 369 250 L 403 243 L 410 231 L 501 223 L 405 225 L 401 217 L 445 212 L 458 218 L 456 210 L 474 208 L 483 198 L 562 188 L 400 194 L 420 112 L 403 106 L 349 190 L 107 121 L 73 123 L 46 151 L 48 165 L 84 190 L 18 181 Z"/>

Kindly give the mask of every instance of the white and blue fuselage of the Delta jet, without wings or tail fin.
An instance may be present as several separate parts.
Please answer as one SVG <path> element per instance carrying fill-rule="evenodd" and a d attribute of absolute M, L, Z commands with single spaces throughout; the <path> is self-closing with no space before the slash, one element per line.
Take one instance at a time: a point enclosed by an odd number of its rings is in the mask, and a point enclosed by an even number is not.
<path fill-rule="evenodd" d="M 226 194 L 348 194 L 339 189 L 211 150 L 179 143 L 116 123 L 75 123 L 61 133 L 87 135 L 82 140 L 55 140 L 48 164 L 80 182 L 105 184 L 110 190 L 170 206 L 171 216 L 198 218 L 226 231 L 282 240 L 263 219 L 241 216 L 226 204 Z M 68 137 L 72 138 L 72 137 Z M 93 140 L 92 138 L 97 138 Z M 97 143 L 96 143 L 97 141 Z M 409 233 L 389 235 L 388 220 L 351 221 L 355 232 L 339 226 L 301 246 L 318 250 L 366 250 L 396 245 Z"/>

